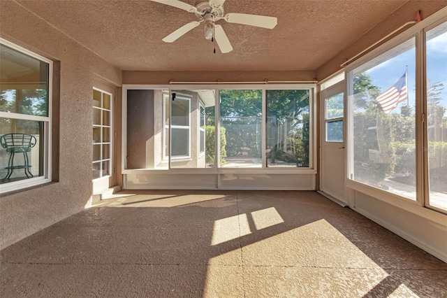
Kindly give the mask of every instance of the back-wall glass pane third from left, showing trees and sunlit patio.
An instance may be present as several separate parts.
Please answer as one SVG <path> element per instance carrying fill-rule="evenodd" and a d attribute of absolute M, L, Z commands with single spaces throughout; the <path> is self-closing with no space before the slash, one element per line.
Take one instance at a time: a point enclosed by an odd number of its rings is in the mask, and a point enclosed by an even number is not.
<path fill-rule="evenodd" d="M 262 90 L 220 90 L 219 100 L 221 166 L 261 167 Z"/>

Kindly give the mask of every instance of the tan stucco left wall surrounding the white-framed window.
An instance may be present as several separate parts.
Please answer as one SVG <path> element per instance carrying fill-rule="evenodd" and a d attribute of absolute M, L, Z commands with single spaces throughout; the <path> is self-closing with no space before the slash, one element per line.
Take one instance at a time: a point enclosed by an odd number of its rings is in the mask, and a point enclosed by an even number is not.
<path fill-rule="evenodd" d="M 91 198 L 91 94 L 94 77 L 121 85 L 122 72 L 13 1 L 0 1 L 0 36 L 60 62 L 58 182 L 2 194 L 0 248 L 77 213 Z M 56 88 L 57 89 L 57 88 Z M 57 148 L 57 146 L 56 146 Z"/>

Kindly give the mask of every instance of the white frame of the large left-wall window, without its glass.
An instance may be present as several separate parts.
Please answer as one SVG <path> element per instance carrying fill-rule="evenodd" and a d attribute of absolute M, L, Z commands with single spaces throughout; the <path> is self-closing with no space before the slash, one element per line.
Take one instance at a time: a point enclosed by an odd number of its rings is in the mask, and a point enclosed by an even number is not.
<path fill-rule="evenodd" d="M 41 55 L 38 55 L 30 50 L 20 47 L 19 45 L 15 45 L 10 41 L 6 41 L 3 38 L 0 38 L 0 43 L 8 46 L 9 48 L 13 48 L 18 52 L 22 52 L 24 55 L 29 55 L 35 59 L 41 60 L 48 64 L 48 114 L 47 116 L 36 116 L 36 115 L 25 115 L 20 113 L 6 113 L 0 111 L 1 118 L 12 118 L 17 120 L 32 120 L 32 121 L 41 121 L 44 123 L 43 125 L 43 176 L 27 178 L 24 180 L 18 180 L 10 183 L 3 183 L 0 187 L 0 193 L 11 192 L 14 190 L 21 190 L 27 187 L 41 185 L 43 183 L 48 183 L 52 180 L 52 164 L 51 164 L 51 127 L 52 127 L 52 80 L 53 80 L 53 62 L 50 59 L 47 59 Z M 3 150 L 3 149 L 2 149 Z M 1 177 L 3 178 L 3 177 Z"/>

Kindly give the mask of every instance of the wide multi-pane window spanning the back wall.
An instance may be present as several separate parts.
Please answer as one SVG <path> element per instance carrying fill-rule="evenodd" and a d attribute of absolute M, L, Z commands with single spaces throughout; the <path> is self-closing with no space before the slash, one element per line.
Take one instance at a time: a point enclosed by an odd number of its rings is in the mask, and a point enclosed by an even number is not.
<path fill-rule="evenodd" d="M 287 87 L 126 89 L 124 167 L 311 169 L 314 85 Z"/>

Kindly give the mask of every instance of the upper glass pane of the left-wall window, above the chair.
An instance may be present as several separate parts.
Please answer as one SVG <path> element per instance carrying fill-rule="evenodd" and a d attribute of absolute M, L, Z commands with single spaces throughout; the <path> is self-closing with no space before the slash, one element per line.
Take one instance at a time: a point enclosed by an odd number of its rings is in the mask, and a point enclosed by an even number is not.
<path fill-rule="evenodd" d="M 49 64 L 2 44 L 0 52 L 0 111 L 47 116 Z"/>

